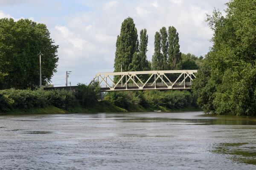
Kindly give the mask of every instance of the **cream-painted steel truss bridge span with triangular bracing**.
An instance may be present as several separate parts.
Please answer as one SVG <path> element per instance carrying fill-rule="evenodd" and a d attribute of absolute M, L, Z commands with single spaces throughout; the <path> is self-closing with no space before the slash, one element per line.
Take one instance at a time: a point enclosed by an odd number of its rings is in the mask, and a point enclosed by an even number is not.
<path fill-rule="evenodd" d="M 98 81 L 102 92 L 190 89 L 193 79 L 196 78 L 195 73 L 197 70 L 97 73 L 90 84 Z"/>

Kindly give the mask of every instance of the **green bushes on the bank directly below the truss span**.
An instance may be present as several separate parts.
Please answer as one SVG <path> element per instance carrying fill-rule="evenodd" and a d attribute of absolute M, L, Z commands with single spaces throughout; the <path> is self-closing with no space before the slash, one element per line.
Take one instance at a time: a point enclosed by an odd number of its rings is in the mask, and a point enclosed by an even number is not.
<path fill-rule="evenodd" d="M 169 109 L 196 106 L 188 91 L 116 91 L 106 94 L 105 100 L 128 110 L 137 105 L 144 108 L 163 106 Z"/>

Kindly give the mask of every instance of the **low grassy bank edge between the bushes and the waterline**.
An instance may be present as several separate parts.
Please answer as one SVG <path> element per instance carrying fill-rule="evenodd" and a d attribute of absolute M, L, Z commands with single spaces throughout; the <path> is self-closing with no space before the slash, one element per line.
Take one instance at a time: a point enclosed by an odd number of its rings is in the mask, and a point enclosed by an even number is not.
<path fill-rule="evenodd" d="M 15 109 L 8 111 L 6 113 L 0 113 L 0 116 L 6 115 L 28 115 L 28 114 L 70 114 L 70 113 L 127 113 L 127 112 L 153 112 L 153 111 L 162 111 L 162 112 L 181 112 L 181 111 L 201 111 L 200 108 L 188 106 L 185 108 L 171 109 L 163 106 L 144 108 L 141 105 L 136 105 L 134 108 L 127 110 L 125 108 L 120 108 L 113 105 L 108 101 L 101 101 L 97 103 L 94 107 L 90 108 L 81 108 L 75 107 L 69 110 L 62 108 L 57 108 L 55 106 L 48 106 L 45 108 L 32 108 L 29 110 L 19 110 Z"/>

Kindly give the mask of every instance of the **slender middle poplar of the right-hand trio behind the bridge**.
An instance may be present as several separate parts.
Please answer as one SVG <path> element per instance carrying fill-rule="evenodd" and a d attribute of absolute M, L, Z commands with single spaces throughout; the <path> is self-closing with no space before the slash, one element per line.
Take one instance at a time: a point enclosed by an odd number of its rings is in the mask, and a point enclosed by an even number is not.
<path fill-rule="evenodd" d="M 167 35 L 167 31 L 166 28 L 163 27 L 160 29 L 160 34 L 161 34 L 161 51 L 163 54 L 163 65 L 161 70 L 167 70 L 168 69 L 168 63 L 167 63 L 167 59 L 168 59 L 168 35 Z"/>

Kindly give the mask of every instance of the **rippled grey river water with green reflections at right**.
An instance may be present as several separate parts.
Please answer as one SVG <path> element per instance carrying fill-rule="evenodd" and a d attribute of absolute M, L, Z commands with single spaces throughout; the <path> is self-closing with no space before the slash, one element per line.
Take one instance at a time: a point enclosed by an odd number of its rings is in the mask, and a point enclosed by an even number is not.
<path fill-rule="evenodd" d="M 183 113 L 0 116 L 0 170 L 255 170 L 256 119 Z"/>

